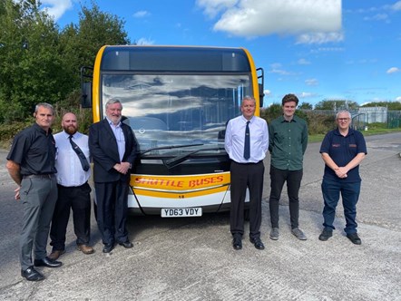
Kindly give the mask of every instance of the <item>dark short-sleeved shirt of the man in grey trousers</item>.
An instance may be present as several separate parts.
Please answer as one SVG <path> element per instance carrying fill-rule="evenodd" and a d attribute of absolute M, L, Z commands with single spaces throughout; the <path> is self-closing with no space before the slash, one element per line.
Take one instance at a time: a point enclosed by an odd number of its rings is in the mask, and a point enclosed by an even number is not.
<path fill-rule="evenodd" d="M 21 168 L 21 175 L 55 173 L 55 141 L 52 130 L 48 133 L 37 123 L 15 135 L 7 160 Z"/>

